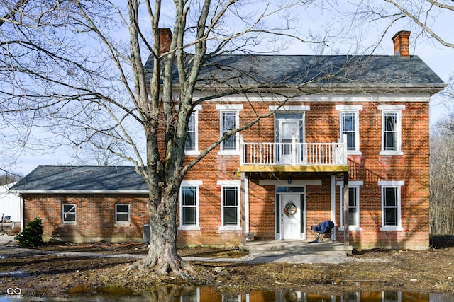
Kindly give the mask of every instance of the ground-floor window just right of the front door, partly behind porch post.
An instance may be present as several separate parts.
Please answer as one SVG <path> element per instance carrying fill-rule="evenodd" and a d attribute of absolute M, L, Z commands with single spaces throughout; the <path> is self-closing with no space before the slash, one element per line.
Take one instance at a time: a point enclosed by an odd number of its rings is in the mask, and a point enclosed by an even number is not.
<path fill-rule="evenodd" d="M 343 229 L 343 182 L 338 182 L 341 187 L 341 230 Z M 348 229 L 361 231 L 360 228 L 360 186 L 362 181 L 348 182 Z"/>

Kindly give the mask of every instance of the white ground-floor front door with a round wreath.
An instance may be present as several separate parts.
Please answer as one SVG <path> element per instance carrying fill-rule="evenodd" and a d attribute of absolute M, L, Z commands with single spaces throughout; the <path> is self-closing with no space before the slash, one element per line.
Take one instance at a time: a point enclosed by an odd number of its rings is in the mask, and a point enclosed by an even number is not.
<path fill-rule="evenodd" d="M 301 200 L 299 194 L 281 195 L 281 238 L 301 239 Z"/>

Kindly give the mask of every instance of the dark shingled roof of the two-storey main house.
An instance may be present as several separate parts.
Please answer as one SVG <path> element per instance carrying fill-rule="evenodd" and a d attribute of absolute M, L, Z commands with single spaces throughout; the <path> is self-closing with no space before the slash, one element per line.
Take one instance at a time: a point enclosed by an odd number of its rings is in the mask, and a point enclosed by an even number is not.
<path fill-rule="evenodd" d="M 190 62 L 192 54 L 187 55 Z M 153 71 L 153 57 L 145 63 Z M 150 74 L 148 74 L 150 76 Z M 199 85 L 292 87 L 415 86 L 443 89 L 445 84 L 418 56 L 319 56 L 228 54 L 208 59 L 199 73 Z M 177 69 L 173 81 L 178 84 Z"/>

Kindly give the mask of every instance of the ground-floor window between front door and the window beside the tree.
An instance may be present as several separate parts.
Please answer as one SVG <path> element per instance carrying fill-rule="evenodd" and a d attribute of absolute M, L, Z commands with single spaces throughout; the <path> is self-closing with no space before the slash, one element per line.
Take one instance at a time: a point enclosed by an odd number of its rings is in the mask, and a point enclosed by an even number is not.
<path fill-rule="evenodd" d="M 240 182 L 218 181 L 221 184 L 221 229 L 240 230 Z"/>

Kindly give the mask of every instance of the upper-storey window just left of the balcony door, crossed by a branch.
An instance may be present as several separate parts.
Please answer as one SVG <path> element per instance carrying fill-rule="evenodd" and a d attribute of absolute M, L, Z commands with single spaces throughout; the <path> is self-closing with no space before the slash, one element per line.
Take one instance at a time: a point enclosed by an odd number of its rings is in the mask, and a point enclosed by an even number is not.
<path fill-rule="evenodd" d="M 226 133 L 233 129 L 237 129 L 240 124 L 240 110 L 243 105 L 216 105 L 216 109 L 220 110 L 220 135 L 223 137 Z M 240 135 L 231 134 L 224 141 L 221 142 L 221 154 L 234 154 L 240 153 Z"/>

